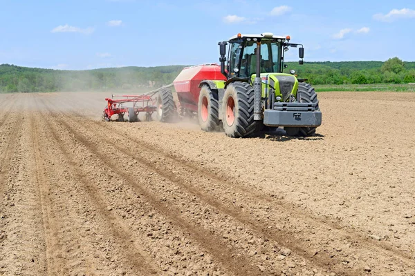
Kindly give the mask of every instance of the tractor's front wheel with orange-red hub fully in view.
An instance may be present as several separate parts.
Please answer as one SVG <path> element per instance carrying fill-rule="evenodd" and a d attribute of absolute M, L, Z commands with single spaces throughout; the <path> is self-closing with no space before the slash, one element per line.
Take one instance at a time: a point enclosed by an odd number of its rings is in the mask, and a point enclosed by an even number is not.
<path fill-rule="evenodd" d="M 254 88 L 249 83 L 231 83 L 223 96 L 222 108 L 223 128 L 228 137 L 248 137 L 255 133 Z"/>

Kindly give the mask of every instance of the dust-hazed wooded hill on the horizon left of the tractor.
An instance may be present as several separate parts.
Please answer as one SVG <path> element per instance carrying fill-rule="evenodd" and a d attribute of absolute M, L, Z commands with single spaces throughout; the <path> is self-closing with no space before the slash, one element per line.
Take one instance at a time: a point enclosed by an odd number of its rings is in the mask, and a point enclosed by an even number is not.
<path fill-rule="evenodd" d="M 1 64 L 0 91 L 146 91 L 172 83 L 184 67 L 186 66 L 53 70 Z"/>

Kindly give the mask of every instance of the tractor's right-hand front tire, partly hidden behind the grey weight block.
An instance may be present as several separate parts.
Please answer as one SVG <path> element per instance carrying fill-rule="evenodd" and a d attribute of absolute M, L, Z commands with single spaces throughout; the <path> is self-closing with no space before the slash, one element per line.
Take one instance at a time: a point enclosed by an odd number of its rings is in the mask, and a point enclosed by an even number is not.
<path fill-rule="evenodd" d="M 315 92 L 313 86 L 310 83 L 300 82 L 298 83 L 297 90 L 297 101 L 300 103 L 317 103 L 315 110 L 320 110 L 318 106 L 317 93 Z M 284 128 L 288 136 L 302 136 L 307 137 L 315 133 L 317 127 L 295 127 L 295 128 Z"/>

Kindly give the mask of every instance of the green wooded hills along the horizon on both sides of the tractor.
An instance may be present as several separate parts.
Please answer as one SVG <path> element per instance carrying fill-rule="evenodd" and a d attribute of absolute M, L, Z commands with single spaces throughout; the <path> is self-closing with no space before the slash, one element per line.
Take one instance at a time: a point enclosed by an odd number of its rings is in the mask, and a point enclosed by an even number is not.
<path fill-rule="evenodd" d="M 299 77 L 313 84 L 415 82 L 415 62 L 382 61 L 287 62 Z M 390 64 L 389 64 L 390 63 Z M 0 65 L 0 92 L 87 90 L 148 91 L 172 83 L 186 66 L 123 67 L 94 70 L 53 70 Z"/>

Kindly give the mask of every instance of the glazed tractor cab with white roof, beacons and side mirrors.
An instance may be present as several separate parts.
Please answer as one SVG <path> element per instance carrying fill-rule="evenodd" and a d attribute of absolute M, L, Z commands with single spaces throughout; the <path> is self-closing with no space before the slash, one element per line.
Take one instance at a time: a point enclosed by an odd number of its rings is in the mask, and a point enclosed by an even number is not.
<path fill-rule="evenodd" d="M 281 73 L 284 68 L 284 52 L 288 46 L 299 48 L 300 63 L 304 57 L 304 48 L 301 44 L 288 43 L 290 37 L 279 37 L 272 33 L 263 34 L 237 34 L 231 37 L 229 41 L 219 42 L 223 48 L 223 75 L 227 79 L 248 78 L 257 74 L 277 72 Z M 228 59 L 225 58 L 225 46 L 230 43 L 228 50 Z M 222 49 L 221 49 L 222 50 Z M 221 52 L 222 54 L 222 52 Z M 223 60 L 223 61 L 222 61 Z M 225 61 L 228 63 L 224 64 Z"/>

